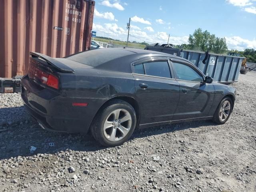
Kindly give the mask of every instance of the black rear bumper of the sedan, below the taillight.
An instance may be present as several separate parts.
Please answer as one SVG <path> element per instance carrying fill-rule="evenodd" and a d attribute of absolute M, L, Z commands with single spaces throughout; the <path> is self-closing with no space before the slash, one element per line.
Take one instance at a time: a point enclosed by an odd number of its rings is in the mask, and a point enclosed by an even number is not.
<path fill-rule="evenodd" d="M 27 76 L 22 78 L 21 97 L 26 110 L 46 130 L 86 133 L 97 112 L 90 99 L 68 98 L 47 88 L 36 90 Z M 89 105 L 72 106 L 78 101 Z"/>

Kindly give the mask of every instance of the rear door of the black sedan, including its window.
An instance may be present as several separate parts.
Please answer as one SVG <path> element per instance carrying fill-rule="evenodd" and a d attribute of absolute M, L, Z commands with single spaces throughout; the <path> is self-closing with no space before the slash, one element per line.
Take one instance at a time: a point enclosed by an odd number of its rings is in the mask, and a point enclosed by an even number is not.
<path fill-rule="evenodd" d="M 171 121 L 178 105 L 180 86 L 173 78 L 168 58 L 149 58 L 132 63 L 141 126 Z"/>

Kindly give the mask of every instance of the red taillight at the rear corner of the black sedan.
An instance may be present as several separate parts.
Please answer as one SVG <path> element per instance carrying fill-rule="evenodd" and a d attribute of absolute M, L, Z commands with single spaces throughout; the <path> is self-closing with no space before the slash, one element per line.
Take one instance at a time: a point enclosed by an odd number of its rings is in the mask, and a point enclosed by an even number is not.
<path fill-rule="evenodd" d="M 59 80 L 56 76 L 51 75 L 34 65 L 30 65 L 28 69 L 28 76 L 35 82 L 50 86 L 54 89 L 59 88 Z"/>

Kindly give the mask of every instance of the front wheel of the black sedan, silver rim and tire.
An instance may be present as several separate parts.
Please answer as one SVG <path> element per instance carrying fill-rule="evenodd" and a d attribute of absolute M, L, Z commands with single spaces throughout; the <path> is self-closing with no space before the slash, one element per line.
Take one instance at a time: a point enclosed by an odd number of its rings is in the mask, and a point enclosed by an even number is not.
<path fill-rule="evenodd" d="M 232 112 L 233 103 L 231 98 L 223 98 L 215 111 L 212 121 L 216 124 L 224 124 Z"/>

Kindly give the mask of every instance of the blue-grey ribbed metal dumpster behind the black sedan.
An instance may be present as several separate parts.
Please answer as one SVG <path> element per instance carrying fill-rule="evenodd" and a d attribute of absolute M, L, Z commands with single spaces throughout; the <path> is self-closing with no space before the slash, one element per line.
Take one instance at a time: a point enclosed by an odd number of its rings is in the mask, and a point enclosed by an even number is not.
<path fill-rule="evenodd" d="M 203 64 L 202 61 L 206 56 L 205 52 L 192 50 L 178 51 L 173 48 L 155 46 L 146 46 L 145 49 L 165 52 L 185 58 L 197 66 L 206 76 L 210 76 L 214 81 L 220 83 L 237 82 L 242 60 L 244 59 L 244 57 L 209 53 L 206 64 Z"/>

